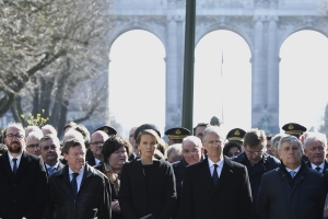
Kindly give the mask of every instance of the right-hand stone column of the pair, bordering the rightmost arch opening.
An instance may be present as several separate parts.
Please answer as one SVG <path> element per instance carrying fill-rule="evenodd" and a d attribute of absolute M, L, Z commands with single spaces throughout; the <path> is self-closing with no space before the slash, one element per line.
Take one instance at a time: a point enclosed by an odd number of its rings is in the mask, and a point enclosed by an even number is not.
<path fill-rule="evenodd" d="M 267 113 L 271 134 L 280 132 L 279 128 L 279 54 L 277 42 L 277 16 L 269 18 L 268 23 L 268 96 Z"/>

